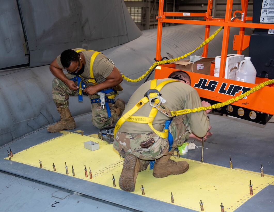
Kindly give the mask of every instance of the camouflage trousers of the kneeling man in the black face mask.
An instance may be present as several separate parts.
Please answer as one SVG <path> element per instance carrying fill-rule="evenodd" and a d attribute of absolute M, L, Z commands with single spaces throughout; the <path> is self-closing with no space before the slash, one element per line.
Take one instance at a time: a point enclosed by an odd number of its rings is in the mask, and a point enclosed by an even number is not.
<path fill-rule="evenodd" d="M 65 74 L 68 79 L 72 79 L 75 75 Z M 77 82 L 75 82 L 77 84 Z M 90 84 L 87 84 L 89 86 Z M 111 92 L 110 94 L 113 94 Z M 106 96 L 110 95 L 107 94 Z M 58 78 L 54 78 L 52 81 L 52 98 L 57 108 L 68 108 L 68 98 L 69 96 L 78 96 L 78 91 L 72 91 L 68 88 L 67 84 L 65 84 L 62 80 Z M 100 98 L 97 95 L 89 95 L 90 99 Z M 107 103 L 106 103 L 107 104 Z M 108 103 L 111 117 L 108 118 L 106 107 L 104 109 L 101 108 L 101 103 L 93 103 L 91 104 L 92 108 L 92 124 L 102 129 L 107 126 L 113 126 L 113 124 L 118 119 L 118 114 L 113 110 L 114 104 Z"/>

